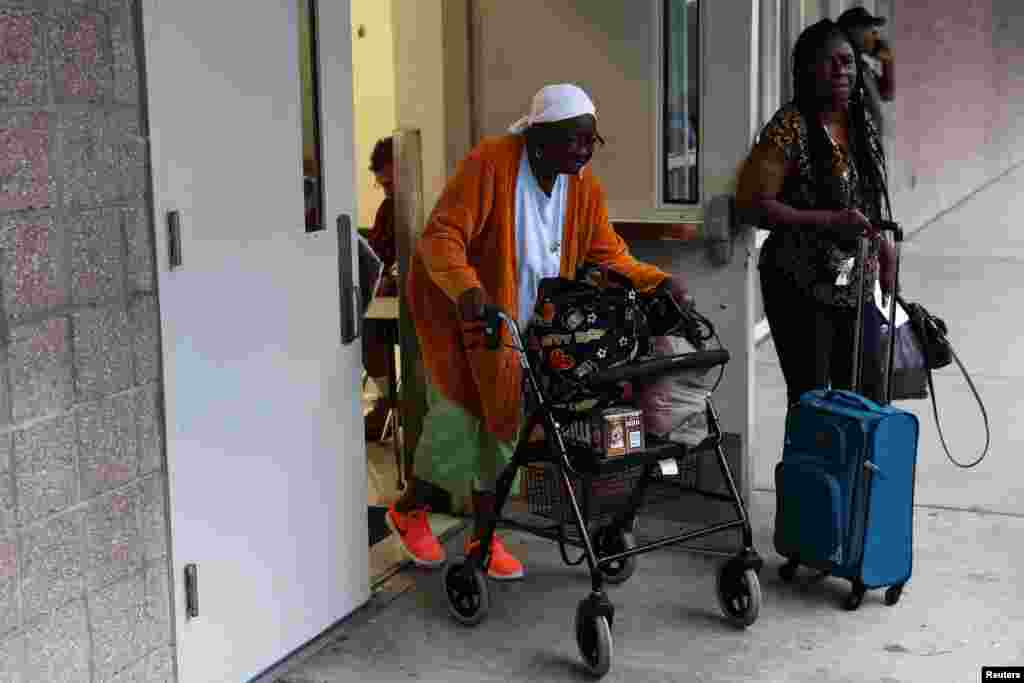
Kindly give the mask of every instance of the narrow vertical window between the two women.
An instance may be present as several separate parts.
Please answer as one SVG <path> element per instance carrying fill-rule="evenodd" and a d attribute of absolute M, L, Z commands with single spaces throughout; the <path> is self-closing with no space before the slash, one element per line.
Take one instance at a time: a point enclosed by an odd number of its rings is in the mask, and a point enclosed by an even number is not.
<path fill-rule="evenodd" d="M 699 3 L 664 1 L 662 198 L 666 204 L 695 204 L 699 201 Z"/>

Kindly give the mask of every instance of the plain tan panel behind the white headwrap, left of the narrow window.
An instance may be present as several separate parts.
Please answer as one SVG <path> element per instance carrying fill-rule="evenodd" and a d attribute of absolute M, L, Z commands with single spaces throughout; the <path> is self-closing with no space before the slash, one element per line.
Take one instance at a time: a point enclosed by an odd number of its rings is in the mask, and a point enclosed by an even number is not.
<path fill-rule="evenodd" d="M 475 7 L 479 133 L 504 133 L 542 86 L 575 83 L 594 99 L 607 140 L 593 163 L 612 218 L 651 217 L 659 60 L 654 3 L 479 0 Z"/>

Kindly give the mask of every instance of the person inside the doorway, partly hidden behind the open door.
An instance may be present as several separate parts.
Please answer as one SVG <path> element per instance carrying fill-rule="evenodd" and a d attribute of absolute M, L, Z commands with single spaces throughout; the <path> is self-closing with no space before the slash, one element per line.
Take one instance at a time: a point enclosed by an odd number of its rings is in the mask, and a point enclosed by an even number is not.
<path fill-rule="evenodd" d="M 370 156 L 370 171 L 377 184 L 384 190 L 384 201 L 377 208 L 374 226 L 367 236 L 370 247 L 384 264 L 384 273 L 377 290 L 379 296 L 397 296 L 397 254 L 394 234 L 394 156 L 392 138 L 378 140 Z M 387 422 L 391 387 L 388 384 L 389 353 L 394 353 L 386 326 L 392 321 L 367 318 L 364 321 L 362 368 L 377 386 L 378 397 L 373 409 L 364 418 L 368 441 L 377 441 L 383 435 Z"/>

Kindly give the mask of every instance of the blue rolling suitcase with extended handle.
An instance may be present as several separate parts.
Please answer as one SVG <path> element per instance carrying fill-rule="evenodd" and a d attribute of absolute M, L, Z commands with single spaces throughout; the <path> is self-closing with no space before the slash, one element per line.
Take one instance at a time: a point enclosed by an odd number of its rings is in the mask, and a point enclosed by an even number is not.
<path fill-rule="evenodd" d="M 896 237 L 898 254 L 900 230 L 886 227 Z M 862 240 L 862 254 L 866 248 Z M 898 264 L 897 257 L 897 272 Z M 863 306 L 858 310 L 862 319 Z M 891 304 L 890 329 L 894 314 Z M 858 330 L 855 387 L 860 323 Z M 887 366 L 888 378 L 891 351 Z M 797 567 L 805 565 L 852 583 L 847 609 L 859 607 L 865 591 L 874 588 L 888 588 L 886 604 L 896 604 L 912 566 L 919 430 L 912 413 L 854 391 L 809 391 L 791 408 L 782 461 L 775 467 L 773 541 L 776 552 L 787 559 L 779 569 L 783 581 L 792 581 Z"/>

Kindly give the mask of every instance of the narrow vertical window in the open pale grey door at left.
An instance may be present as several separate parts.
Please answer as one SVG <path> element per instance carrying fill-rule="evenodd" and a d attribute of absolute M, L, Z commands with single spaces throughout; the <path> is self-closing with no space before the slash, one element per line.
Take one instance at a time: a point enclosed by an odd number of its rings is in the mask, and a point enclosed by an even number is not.
<path fill-rule="evenodd" d="M 324 229 L 316 0 L 298 0 L 298 5 L 299 80 L 302 83 L 302 189 L 305 195 L 306 232 L 315 232 Z"/>

